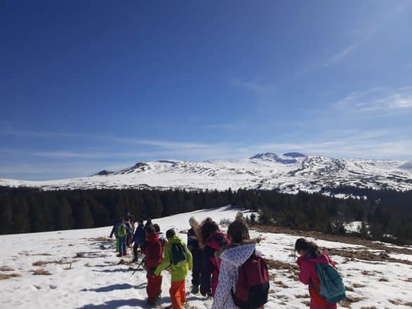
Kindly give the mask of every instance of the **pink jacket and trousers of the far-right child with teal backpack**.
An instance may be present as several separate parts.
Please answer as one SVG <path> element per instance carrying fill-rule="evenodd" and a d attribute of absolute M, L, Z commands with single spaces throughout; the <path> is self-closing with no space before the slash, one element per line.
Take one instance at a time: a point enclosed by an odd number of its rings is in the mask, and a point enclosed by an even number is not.
<path fill-rule="evenodd" d="M 297 260 L 297 264 L 301 267 L 299 273 L 299 281 L 307 284 L 309 287 L 309 294 L 311 295 L 311 308 L 336 308 L 335 303 L 328 303 L 319 294 L 320 281 L 318 272 L 316 272 L 316 263 L 327 264 L 330 263 L 335 267 L 335 263 L 327 256 L 327 253 L 321 253 L 318 258 L 313 258 L 311 253 L 301 256 Z"/>

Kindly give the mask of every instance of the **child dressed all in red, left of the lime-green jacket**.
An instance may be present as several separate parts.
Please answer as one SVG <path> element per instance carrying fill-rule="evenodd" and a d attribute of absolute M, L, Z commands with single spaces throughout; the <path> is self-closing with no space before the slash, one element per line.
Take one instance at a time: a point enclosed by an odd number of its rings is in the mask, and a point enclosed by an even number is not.
<path fill-rule="evenodd" d="M 154 305 L 156 299 L 161 295 L 162 277 L 155 275 L 154 270 L 156 270 L 156 267 L 163 261 L 163 245 L 153 225 L 147 225 L 146 234 L 146 241 L 142 245 L 142 251 L 146 259 L 147 303 Z"/>

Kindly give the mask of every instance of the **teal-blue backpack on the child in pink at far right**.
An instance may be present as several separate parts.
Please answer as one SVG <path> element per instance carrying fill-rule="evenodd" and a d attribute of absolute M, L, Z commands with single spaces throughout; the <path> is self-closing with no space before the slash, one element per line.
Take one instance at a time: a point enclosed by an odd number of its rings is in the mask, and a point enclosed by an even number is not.
<path fill-rule="evenodd" d="M 329 303 L 338 303 L 346 298 L 342 276 L 336 268 L 328 264 L 316 263 L 316 272 L 320 280 L 319 294 Z"/>

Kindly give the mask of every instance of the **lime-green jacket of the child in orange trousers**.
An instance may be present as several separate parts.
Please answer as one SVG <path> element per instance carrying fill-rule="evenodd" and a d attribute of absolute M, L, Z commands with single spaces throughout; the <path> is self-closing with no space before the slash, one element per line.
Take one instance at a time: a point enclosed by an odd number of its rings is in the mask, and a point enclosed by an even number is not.
<path fill-rule="evenodd" d="M 187 260 L 182 260 L 177 265 L 173 265 L 172 262 L 172 245 L 173 244 L 182 244 L 185 248 L 187 254 Z M 163 270 L 166 270 L 170 266 L 170 271 L 172 273 L 172 281 L 182 281 L 185 280 L 187 276 L 187 271 L 192 270 L 192 253 L 187 249 L 186 244 L 177 237 L 176 235 L 168 239 L 168 244 L 163 248 L 163 262 L 156 267 L 154 271 L 155 275 L 160 275 Z"/>

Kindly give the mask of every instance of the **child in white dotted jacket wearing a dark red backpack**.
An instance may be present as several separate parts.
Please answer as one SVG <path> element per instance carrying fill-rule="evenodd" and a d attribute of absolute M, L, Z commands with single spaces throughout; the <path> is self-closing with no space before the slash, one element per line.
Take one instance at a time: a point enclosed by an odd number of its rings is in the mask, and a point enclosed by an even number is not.
<path fill-rule="evenodd" d="M 227 229 L 230 246 L 220 251 L 220 272 L 212 309 L 263 309 L 268 301 L 268 266 L 256 251 L 258 239 L 250 239 L 243 219 Z"/>

